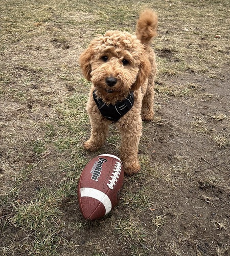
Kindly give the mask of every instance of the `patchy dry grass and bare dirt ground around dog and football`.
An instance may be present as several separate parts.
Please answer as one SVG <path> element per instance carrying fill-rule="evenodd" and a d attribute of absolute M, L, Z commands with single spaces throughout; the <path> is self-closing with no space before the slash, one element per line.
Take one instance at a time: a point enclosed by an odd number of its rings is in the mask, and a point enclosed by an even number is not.
<path fill-rule="evenodd" d="M 143 123 L 142 171 L 118 207 L 86 222 L 77 184 L 90 83 L 78 58 L 106 30 L 134 33 L 158 13 L 155 118 Z M 16 1 L 0 14 L 0 254 L 230 253 L 229 1 Z"/>

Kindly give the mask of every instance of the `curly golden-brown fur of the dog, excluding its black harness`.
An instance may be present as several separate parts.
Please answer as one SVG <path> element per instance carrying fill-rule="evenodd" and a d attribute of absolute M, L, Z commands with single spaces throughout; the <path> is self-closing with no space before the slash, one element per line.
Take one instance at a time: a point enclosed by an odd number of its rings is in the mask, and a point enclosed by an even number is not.
<path fill-rule="evenodd" d="M 140 171 L 138 145 L 142 135 L 142 120 L 153 119 L 155 55 L 150 47 L 156 35 L 157 15 L 151 10 L 141 13 L 136 35 L 107 31 L 93 39 L 80 56 L 80 66 L 92 87 L 87 102 L 91 135 L 84 143 L 89 151 L 97 151 L 108 134 L 110 121 L 103 117 L 93 99 L 93 91 L 106 104 L 115 104 L 134 92 L 132 109 L 116 122 L 121 132 L 120 157 L 126 174 Z M 107 82 L 115 79 L 115 84 Z"/>

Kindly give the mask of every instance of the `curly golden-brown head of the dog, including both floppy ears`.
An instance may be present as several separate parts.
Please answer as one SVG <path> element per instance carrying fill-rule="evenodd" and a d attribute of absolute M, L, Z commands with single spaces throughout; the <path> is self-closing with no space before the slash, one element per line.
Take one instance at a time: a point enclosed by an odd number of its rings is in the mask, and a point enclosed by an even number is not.
<path fill-rule="evenodd" d="M 80 56 L 80 66 L 101 95 L 137 90 L 151 71 L 141 41 L 121 31 L 107 31 L 92 40 Z"/>

